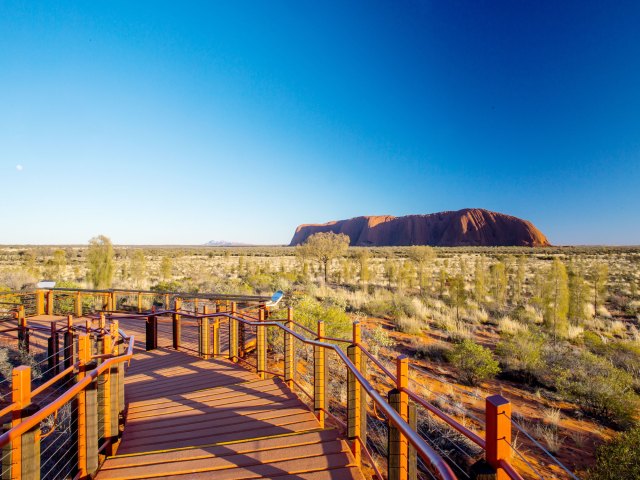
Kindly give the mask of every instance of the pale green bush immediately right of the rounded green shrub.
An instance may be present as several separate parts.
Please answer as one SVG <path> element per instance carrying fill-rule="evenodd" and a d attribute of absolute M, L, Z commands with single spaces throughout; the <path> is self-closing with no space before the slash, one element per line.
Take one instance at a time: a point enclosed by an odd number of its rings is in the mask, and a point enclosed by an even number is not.
<path fill-rule="evenodd" d="M 523 376 L 531 383 L 544 367 L 543 345 L 544 337 L 537 333 L 525 331 L 517 335 L 503 334 L 496 353 L 505 371 Z"/>

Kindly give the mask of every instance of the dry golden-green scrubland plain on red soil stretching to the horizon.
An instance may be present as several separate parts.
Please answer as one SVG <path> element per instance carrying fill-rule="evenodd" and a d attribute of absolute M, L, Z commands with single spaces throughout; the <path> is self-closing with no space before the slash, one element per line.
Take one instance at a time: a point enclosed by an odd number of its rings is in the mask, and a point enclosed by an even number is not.
<path fill-rule="evenodd" d="M 410 354 L 451 384 L 502 392 L 514 417 L 583 475 L 639 478 L 637 462 L 611 458 L 638 448 L 640 249 L 366 249 L 325 240 L 297 248 L 119 247 L 106 238 L 89 247 L 6 246 L 0 288 L 49 278 L 85 288 L 282 289 L 296 319 L 313 327 L 323 318 L 329 336 L 348 337 L 360 319 L 374 354 Z"/>

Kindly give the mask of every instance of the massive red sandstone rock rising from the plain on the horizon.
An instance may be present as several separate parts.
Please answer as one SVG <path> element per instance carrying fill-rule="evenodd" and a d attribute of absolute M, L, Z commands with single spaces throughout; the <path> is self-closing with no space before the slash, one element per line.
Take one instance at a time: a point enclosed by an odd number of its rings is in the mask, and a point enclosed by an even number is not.
<path fill-rule="evenodd" d="M 531 222 L 480 208 L 429 215 L 356 217 L 300 225 L 291 240 L 299 245 L 314 233 L 349 236 L 353 246 L 432 245 L 544 247 L 550 243 Z"/>

